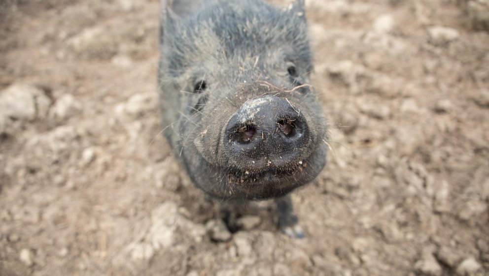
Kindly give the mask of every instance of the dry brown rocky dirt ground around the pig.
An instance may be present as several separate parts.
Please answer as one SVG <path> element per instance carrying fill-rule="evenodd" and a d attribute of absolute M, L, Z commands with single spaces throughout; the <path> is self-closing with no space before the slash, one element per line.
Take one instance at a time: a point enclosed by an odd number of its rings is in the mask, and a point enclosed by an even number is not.
<path fill-rule="evenodd" d="M 0 275 L 489 275 L 488 1 L 306 3 L 333 127 L 306 238 L 259 202 L 215 241 L 160 135 L 159 1 L 0 1 Z"/>

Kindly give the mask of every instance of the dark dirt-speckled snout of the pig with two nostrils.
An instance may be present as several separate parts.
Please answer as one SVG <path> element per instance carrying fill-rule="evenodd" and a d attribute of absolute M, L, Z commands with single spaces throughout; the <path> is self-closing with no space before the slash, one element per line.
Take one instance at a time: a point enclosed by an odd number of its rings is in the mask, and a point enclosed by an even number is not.
<path fill-rule="evenodd" d="M 223 151 L 235 167 L 250 171 L 301 164 L 309 126 L 287 99 L 260 96 L 246 101 L 224 129 Z"/>

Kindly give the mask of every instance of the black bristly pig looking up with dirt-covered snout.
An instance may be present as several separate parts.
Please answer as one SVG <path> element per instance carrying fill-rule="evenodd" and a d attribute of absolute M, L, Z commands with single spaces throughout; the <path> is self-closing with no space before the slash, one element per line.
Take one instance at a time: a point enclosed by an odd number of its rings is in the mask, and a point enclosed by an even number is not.
<path fill-rule="evenodd" d="M 288 194 L 328 149 L 304 0 L 164 1 L 160 53 L 163 132 L 193 183 L 221 202 L 274 198 L 279 228 L 302 238 Z"/>

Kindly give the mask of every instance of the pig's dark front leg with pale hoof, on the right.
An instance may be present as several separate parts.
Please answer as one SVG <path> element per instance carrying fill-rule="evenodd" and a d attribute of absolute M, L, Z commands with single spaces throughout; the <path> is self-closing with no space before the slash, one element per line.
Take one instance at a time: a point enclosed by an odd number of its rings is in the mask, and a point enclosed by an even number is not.
<path fill-rule="evenodd" d="M 277 204 L 280 230 L 290 238 L 304 238 L 304 232 L 298 224 L 297 215 L 294 214 L 290 195 L 276 198 L 275 203 Z"/>

